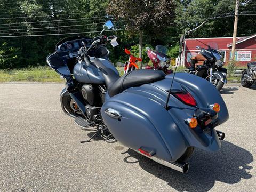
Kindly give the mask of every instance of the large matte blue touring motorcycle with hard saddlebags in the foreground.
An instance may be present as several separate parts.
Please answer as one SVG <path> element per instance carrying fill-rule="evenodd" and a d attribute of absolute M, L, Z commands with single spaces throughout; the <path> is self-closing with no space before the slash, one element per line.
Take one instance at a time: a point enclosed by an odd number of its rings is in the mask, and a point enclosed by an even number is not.
<path fill-rule="evenodd" d="M 113 27 L 111 21 L 103 31 Z M 62 110 L 84 129 L 95 128 L 88 140 L 101 136 L 182 173 L 194 147 L 216 151 L 224 133 L 215 127 L 226 122 L 228 110 L 220 93 L 204 79 L 188 73 L 165 76 L 161 70 L 133 70 L 120 77 L 108 59 L 108 41 L 62 39 L 46 58 L 65 77 L 60 94 Z M 171 85 L 171 86 L 170 86 Z"/>

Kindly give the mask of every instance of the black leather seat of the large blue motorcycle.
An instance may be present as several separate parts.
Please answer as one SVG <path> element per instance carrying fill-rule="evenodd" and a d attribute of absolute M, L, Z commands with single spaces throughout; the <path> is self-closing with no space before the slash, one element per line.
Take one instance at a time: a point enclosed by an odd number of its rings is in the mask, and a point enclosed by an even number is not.
<path fill-rule="evenodd" d="M 165 78 L 165 73 L 160 70 L 133 70 L 122 77 L 118 77 L 112 73 L 109 68 L 102 69 L 102 73 L 105 76 L 110 97 L 113 97 L 130 87 L 153 83 Z"/>

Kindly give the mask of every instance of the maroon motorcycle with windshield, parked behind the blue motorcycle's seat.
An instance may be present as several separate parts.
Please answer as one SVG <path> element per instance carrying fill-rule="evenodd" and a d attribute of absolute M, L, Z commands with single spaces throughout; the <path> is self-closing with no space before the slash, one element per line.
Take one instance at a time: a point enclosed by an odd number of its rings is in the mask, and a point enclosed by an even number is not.
<path fill-rule="evenodd" d="M 173 73 L 173 70 L 168 69 L 171 60 L 166 55 L 168 49 L 165 46 L 157 45 L 156 51 L 151 50 L 149 47 L 146 49 L 149 59 L 153 62 L 153 67 L 147 65 L 146 69 L 162 70 L 166 75 Z"/>

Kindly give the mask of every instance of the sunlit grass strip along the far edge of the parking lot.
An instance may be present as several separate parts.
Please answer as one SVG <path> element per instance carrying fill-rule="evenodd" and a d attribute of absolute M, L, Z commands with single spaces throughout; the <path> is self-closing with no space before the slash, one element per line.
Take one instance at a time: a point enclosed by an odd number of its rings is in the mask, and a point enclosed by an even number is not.
<path fill-rule="evenodd" d="M 241 67 L 238 67 L 239 69 Z M 243 68 L 243 67 L 242 67 Z M 178 67 L 177 71 L 185 71 L 185 67 Z M 117 67 L 120 75 L 124 74 L 123 67 Z M 241 77 L 228 77 L 228 81 L 240 81 Z M 24 69 L 13 69 L 13 70 L 0 70 L 0 82 L 13 82 L 13 81 L 24 81 L 24 82 L 65 82 L 65 79 L 61 79 L 60 75 L 57 74 L 50 67 L 34 67 Z"/>

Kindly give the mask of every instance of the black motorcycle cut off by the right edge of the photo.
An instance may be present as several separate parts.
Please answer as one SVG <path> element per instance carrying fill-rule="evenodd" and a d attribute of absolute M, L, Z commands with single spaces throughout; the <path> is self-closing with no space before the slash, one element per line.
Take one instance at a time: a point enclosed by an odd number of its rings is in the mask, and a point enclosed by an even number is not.
<path fill-rule="evenodd" d="M 241 77 L 241 85 L 243 87 L 250 87 L 256 84 L 256 62 L 247 64 L 248 69 L 245 69 Z"/>

